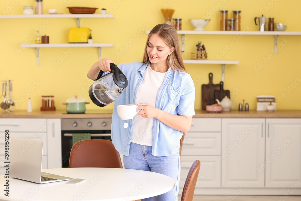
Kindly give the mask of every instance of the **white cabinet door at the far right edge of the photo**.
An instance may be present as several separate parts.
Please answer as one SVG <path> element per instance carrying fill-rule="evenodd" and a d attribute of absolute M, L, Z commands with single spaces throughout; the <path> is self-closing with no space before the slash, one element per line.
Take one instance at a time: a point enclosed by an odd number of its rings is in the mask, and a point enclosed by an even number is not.
<path fill-rule="evenodd" d="M 266 119 L 265 158 L 265 187 L 297 184 L 301 178 L 301 119 Z"/>

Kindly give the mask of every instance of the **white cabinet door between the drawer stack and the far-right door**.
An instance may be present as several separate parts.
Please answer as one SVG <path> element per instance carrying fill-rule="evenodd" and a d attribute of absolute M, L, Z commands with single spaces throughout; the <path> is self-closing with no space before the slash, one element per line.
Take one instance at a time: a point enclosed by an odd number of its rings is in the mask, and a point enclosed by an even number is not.
<path fill-rule="evenodd" d="M 222 187 L 264 187 L 265 119 L 222 119 Z"/>

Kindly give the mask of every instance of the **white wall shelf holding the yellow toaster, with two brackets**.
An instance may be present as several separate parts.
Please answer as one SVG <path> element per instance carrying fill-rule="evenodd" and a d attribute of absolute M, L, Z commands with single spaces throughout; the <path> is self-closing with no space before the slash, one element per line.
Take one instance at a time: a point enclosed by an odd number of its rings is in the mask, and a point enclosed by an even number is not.
<path fill-rule="evenodd" d="M 40 64 L 39 48 L 51 48 L 51 47 L 97 47 L 98 59 L 101 60 L 101 47 L 113 47 L 113 43 L 60 43 L 60 44 L 21 44 L 23 48 L 36 49 L 37 65 Z"/>

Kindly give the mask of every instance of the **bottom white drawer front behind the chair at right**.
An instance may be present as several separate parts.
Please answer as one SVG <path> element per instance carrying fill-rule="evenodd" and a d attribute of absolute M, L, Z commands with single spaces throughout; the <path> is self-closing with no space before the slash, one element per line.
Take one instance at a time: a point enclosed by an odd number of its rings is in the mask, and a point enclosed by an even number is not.
<path fill-rule="evenodd" d="M 221 160 L 219 156 L 181 156 L 181 175 L 179 194 L 182 194 L 186 177 L 195 160 L 200 160 L 200 172 L 197 177 L 194 194 L 203 188 L 221 187 Z"/>

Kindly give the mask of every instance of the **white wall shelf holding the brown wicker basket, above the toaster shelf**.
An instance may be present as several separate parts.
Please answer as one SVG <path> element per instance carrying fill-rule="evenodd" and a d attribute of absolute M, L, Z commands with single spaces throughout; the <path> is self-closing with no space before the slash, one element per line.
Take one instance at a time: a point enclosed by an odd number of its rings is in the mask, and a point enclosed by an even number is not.
<path fill-rule="evenodd" d="M 113 18 L 113 14 L 33 14 L 33 15 L 0 15 L 0 19 L 22 19 L 22 18 L 76 18 L 80 27 L 80 18 Z"/>

